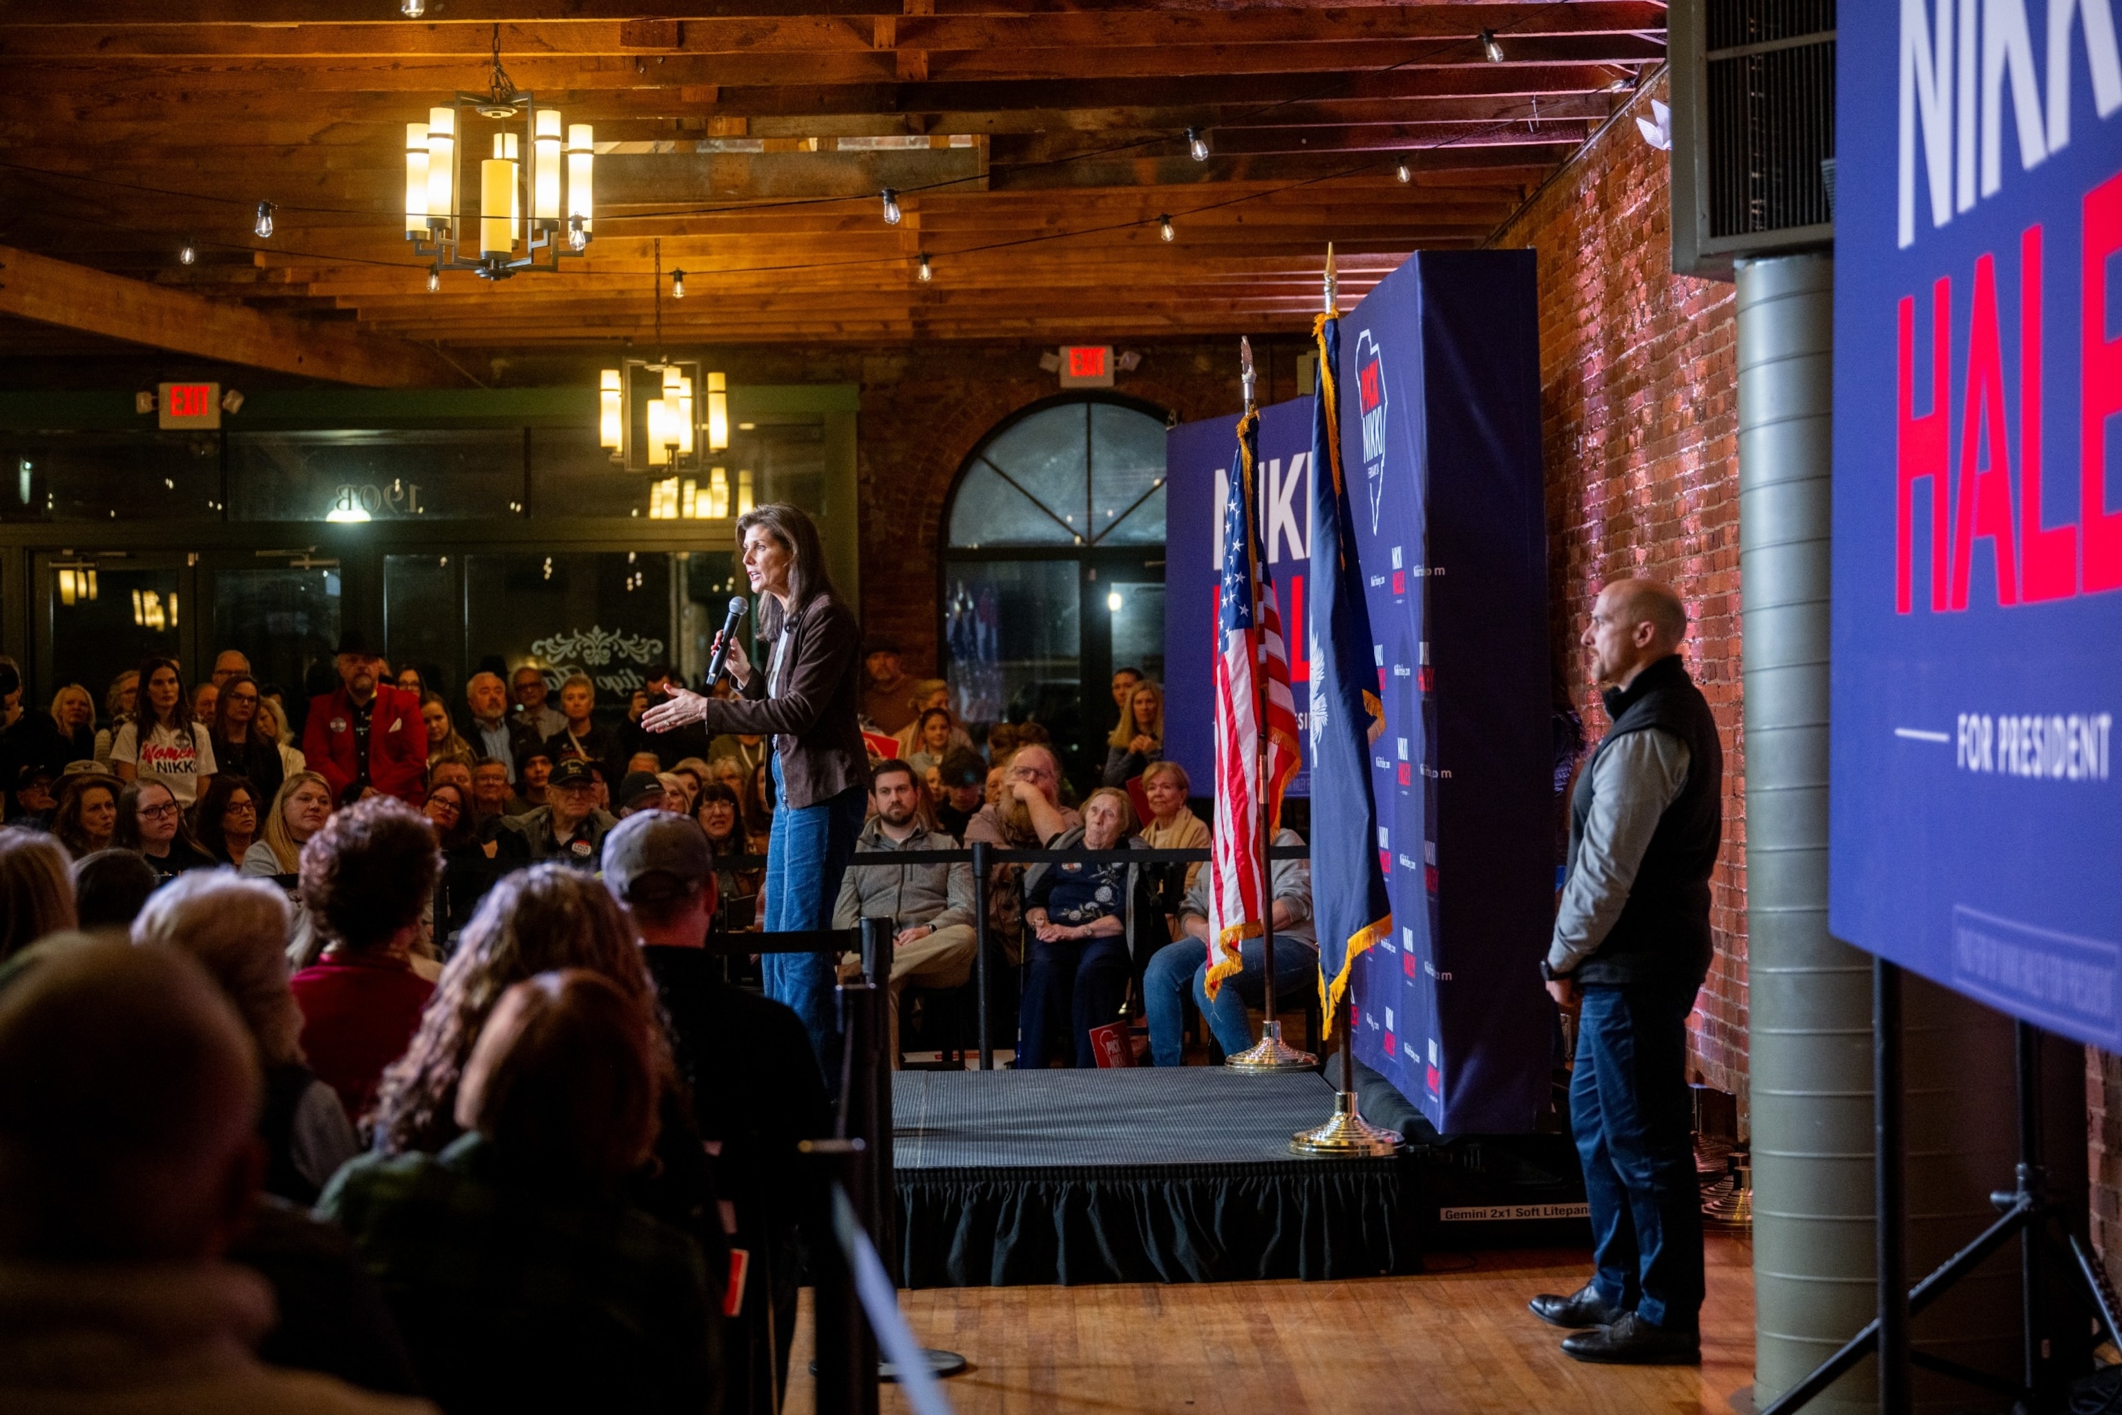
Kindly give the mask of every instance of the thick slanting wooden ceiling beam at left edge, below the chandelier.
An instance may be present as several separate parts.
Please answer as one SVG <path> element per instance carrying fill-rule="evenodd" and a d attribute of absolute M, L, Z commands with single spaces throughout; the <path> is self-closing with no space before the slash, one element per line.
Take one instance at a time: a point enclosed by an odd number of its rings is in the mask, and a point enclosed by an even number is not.
<path fill-rule="evenodd" d="M 365 388 L 454 384 L 433 352 L 0 246 L 0 314 Z"/>

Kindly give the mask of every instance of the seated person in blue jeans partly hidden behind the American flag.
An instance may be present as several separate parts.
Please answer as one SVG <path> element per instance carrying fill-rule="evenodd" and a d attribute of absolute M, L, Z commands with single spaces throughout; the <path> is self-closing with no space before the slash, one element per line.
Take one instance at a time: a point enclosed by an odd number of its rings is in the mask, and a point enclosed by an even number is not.
<path fill-rule="evenodd" d="M 1305 842 L 1294 829 L 1275 832 L 1275 844 Z M 1186 891 L 1186 906 L 1180 910 L 1180 942 L 1165 944 L 1150 959 L 1142 976 L 1142 1010 L 1150 1018 L 1150 1056 L 1161 1067 L 1184 1065 L 1186 989 L 1193 989 L 1195 1006 L 1207 1018 L 1207 1029 L 1224 1056 L 1252 1046 L 1252 1023 L 1246 1018 L 1246 1003 L 1258 1003 L 1265 995 L 1260 965 L 1267 948 L 1258 936 L 1239 944 L 1243 972 L 1224 978 L 1216 989 L 1216 1001 L 1207 997 L 1207 887 L 1210 872 L 1203 870 Z M 1275 1001 L 1297 999 L 1316 986 L 1320 969 L 1318 933 L 1311 929 L 1311 861 L 1275 861 Z"/>

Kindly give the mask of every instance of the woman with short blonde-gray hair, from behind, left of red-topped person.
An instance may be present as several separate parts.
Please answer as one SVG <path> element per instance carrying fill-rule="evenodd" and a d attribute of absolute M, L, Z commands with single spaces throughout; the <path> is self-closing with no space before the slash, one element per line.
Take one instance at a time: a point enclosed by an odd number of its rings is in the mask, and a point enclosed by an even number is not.
<path fill-rule="evenodd" d="M 236 1003 L 265 1071 L 265 1192 L 308 1205 L 359 1154 L 359 1141 L 337 1093 L 301 1054 L 301 1008 L 286 984 L 286 899 L 265 880 L 195 870 L 149 895 L 132 938 L 199 959 Z"/>

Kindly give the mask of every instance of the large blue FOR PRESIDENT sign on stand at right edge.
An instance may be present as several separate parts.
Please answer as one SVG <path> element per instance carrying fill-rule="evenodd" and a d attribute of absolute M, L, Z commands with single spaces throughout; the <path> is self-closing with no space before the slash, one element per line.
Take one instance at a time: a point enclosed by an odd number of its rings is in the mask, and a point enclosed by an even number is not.
<path fill-rule="evenodd" d="M 1829 927 L 2122 1046 L 2109 0 L 1842 8 Z"/>

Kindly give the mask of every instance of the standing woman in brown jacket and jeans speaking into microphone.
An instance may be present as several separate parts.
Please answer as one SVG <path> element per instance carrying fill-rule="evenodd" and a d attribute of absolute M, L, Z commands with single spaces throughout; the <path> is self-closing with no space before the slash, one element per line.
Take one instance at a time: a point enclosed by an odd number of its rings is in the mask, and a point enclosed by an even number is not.
<path fill-rule="evenodd" d="M 641 726 L 772 740 L 775 823 L 766 844 L 766 929 L 823 929 L 840 895 L 868 810 L 870 755 L 855 721 L 862 702 L 862 626 L 832 588 L 817 524 L 785 503 L 736 520 L 745 577 L 758 596 L 760 639 L 772 645 L 760 672 L 732 634 L 728 672 L 738 698 L 705 698 L 673 685 Z M 802 1018 L 828 1078 L 840 1073 L 832 953 L 768 953 L 766 995 Z"/>

